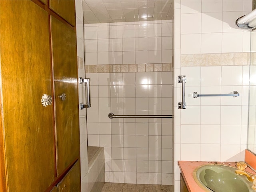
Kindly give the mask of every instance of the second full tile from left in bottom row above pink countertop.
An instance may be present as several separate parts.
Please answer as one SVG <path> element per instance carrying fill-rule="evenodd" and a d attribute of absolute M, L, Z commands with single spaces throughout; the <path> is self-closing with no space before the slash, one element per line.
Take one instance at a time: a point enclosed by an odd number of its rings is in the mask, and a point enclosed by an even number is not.
<path fill-rule="evenodd" d="M 220 144 L 201 144 L 200 161 L 220 161 Z"/>

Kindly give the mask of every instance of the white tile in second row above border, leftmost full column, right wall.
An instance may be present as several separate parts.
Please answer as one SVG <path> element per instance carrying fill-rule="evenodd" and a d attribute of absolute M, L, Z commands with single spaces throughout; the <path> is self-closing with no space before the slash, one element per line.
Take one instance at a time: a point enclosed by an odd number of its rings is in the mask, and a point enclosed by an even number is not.
<path fill-rule="evenodd" d="M 181 14 L 181 34 L 201 32 L 201 13 Z"/>

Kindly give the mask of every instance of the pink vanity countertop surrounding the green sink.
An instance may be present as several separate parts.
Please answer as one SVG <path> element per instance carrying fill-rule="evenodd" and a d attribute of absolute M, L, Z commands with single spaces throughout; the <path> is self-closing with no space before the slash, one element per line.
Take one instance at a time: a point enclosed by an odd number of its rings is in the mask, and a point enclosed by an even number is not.
<path fill-rule="evenodd" d="M 210 164 L 218 164 L 218 165 L 226 165 L 236 167 L 236 162 L 214 162 L 214 161 L 178 161 L 178 165 L 180 167 L 180 172 L 184 178 L 186 186 L 189 192 L 206 192 L 203 188 L 201 188 L 193 177 L 194 170 L 203 165 L 210 165 Z M 255 174 L 253 170 L 249 167 L 245 169 L 246 172 L 250 174 Z"/>

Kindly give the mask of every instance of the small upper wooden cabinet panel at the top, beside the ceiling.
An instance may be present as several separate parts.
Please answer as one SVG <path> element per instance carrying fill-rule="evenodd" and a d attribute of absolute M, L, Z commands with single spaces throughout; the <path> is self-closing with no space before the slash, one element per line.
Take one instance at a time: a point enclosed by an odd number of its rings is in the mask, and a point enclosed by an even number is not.
<path fill-rule="evenodd" d="M 72 26 L 76 26 L 76 12 L 74 0 L 50 0 L 50 9 L 64 18 Z"/>

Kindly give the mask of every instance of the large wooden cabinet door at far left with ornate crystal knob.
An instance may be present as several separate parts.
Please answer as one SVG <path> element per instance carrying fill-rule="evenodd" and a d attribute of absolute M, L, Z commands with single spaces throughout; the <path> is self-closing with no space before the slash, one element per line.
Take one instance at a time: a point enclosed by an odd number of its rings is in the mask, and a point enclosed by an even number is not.
<path fill-rule="evenodd" d="M 44 191 L 54 181 L 48 14 L 31 1 L 0 1 L 0 54 L 8 188 Z"/>

